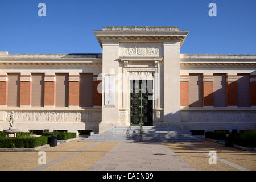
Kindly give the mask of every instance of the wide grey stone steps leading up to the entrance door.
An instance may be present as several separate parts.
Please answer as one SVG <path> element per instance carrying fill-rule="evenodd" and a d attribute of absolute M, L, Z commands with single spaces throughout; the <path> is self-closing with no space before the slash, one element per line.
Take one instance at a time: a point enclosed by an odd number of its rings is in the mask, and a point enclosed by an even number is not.
<path fill-rule="evenodd" d="M 165 126 L 143 126 L 142 142 L 200 142 L 190 133 Z M 94 134 L 81 141 L 90 142 L 140 142 L 138 126 L 116 126 L 101 134 Z"/>

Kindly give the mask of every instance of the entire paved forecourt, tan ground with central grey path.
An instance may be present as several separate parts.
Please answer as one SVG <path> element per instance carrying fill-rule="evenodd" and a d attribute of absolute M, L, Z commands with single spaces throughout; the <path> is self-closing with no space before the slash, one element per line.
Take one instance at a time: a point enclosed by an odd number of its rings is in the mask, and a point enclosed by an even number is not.
<path fill-rule="evenodd" d="M 209 164 L 209 151 L 217 164 Z M 46 164 L 38 164 L 39 151 L 0 151 L 0 170 L 256 170 L 256 152 L 203 141 L 185 143 L 80 142 L 43 148 Z"/>

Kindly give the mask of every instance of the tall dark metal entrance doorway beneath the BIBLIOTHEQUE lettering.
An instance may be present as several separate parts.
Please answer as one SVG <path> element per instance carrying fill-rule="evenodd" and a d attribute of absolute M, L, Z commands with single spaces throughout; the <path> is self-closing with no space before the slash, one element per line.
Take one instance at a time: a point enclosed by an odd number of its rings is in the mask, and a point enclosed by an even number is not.
<path fill-rule="evenodd" d="M 153 81 L 130 80 L 130 125 L 153 125 Z"/>

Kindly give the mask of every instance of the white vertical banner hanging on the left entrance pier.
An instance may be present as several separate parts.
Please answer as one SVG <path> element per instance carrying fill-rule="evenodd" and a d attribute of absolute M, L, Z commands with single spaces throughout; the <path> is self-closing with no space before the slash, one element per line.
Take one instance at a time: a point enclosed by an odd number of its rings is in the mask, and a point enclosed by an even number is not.
<path fill-rule="evenodd" d="M 105 105 L 115 105 L 115 76 L 105 76 Z"/>

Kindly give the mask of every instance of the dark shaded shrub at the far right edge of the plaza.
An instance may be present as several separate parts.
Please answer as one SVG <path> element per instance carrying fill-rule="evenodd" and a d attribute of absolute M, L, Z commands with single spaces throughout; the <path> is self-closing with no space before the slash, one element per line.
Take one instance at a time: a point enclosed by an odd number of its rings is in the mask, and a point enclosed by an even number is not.
<path fill-rule="evenodd" d="M 232 138 L 233 144 L 243 147 L 256 147 L 256 131 L 243 133 Z"/>

